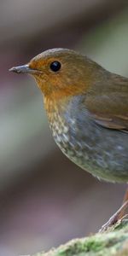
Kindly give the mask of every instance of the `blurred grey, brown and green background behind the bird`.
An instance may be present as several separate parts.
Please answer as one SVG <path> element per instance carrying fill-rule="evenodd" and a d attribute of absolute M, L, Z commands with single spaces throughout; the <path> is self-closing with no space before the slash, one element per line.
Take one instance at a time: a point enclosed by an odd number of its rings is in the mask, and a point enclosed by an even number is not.
<path fill-rule="evenodd" d="M 17 256 L 95 232 L 126 185 L 100 182 L 68 160 L 34 80 L 8 70 L 64 47 L 128 76 L 128 2 L 1 0 L 0 33 L 0 256 Z"/>

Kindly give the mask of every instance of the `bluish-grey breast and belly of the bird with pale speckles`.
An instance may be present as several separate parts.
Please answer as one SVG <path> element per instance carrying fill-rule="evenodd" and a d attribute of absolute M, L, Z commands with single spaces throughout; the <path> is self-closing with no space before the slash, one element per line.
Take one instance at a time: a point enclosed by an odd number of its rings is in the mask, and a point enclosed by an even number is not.
<path fill-rule="evenodd" d="M 67 111 L 55 112 L 50 128 L 55 143 L 75 164 L 104 180 L 128 181 L 128 134 L 96 125 L 88 111 L 79 108 L 78 97 Z"/>

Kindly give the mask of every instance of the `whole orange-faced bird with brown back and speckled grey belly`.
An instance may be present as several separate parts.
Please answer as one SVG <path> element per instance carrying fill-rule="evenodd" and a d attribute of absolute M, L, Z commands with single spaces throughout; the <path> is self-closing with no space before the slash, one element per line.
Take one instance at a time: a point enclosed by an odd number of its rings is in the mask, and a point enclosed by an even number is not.
<path fill-rule="evenodd" d="M 100 180 L 128 182 L 128 79 L 73 49 L 47 49 L 9 69 L 32 75 L 55 143 Z M 128 201 L 104 228 L 116 222 Z"/>

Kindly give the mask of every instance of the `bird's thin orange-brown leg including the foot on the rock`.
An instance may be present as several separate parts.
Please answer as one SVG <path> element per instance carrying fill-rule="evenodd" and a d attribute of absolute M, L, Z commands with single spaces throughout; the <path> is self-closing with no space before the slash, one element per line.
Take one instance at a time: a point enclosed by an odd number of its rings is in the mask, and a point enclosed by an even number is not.
<path fill-rule="evenodd" d="M 122 206 L 119 208 L 117 212 L 113 214 L 111 218 L 109 218 L 108 222 L 106 224 L 102 225 L 102 228 L 99 230 L 99 232 L 103 232 L 105 230 L 108 230 L 109 227 L 111 227 L 113 224 L 116 224 L 119 220 L 122 220 L 125 218 L 125 210 L 128 207 L 128 189 L 125 191 L 125 196 L 123 200 Z"/>

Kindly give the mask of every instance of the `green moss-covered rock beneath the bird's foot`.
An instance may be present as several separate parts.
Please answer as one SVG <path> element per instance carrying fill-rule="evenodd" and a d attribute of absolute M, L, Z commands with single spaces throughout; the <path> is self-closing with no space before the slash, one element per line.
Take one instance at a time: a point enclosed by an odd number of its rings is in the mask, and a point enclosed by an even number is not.
<path fill-rule="evenodd" d="M 74 239 L 50 250 L 31 256 L 128 256 L 128 219 L 104 233 Z"/>

